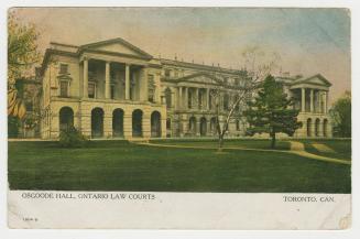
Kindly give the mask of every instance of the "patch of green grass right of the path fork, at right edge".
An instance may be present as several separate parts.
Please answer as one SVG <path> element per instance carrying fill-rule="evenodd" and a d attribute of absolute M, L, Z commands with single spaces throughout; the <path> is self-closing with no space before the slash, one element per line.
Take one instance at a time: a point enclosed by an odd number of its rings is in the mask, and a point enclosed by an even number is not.
<path fill-rule="evenodd" d="M 302 140 L 305 150 L 309 153 L 329 156 L 334 159 L 351 160 L 351 140 Z M 313 146 L 313 143 L 321 143 L 335 152 L 320 152 Z"/>

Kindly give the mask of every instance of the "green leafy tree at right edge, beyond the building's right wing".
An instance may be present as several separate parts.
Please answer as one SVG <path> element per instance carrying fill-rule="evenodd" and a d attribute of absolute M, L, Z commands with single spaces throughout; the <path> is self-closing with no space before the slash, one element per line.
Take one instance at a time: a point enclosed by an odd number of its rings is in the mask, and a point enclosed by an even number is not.
<path fill-rule="evenodd" d="M 329 110 L 334 135 L 351 137 L 351 93 L 346 91 Z"/>

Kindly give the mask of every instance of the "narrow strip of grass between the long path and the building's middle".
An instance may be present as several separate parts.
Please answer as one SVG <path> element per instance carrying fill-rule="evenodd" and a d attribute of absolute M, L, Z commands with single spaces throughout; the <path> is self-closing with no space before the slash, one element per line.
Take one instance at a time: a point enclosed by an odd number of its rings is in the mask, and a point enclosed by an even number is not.
<path fill-rule="evenodd" d="M 186 146 L 208 146 L 217 148 L 218 141 L 215 139 L 194 139 L 194 140 L 152 140 L 153 143 L 171 144 L 171 145 L 186 145 Z M 248 148 L 248 149 L 264 149 L 270 150 L 271 141 L 265 139 L 227 139 L 223 146 Z M 276 150 L 290 150 L 288 141 L 276 141 Z"/>

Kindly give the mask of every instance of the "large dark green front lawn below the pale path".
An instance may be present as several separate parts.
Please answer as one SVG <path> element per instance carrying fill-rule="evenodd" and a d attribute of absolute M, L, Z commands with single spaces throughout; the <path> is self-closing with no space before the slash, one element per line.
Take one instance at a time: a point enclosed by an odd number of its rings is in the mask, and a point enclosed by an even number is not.
<path fill-rule="evenodd" d="M 11 189 L 350 193 L 350 166 L 281 152 L 9 142 Z"/>

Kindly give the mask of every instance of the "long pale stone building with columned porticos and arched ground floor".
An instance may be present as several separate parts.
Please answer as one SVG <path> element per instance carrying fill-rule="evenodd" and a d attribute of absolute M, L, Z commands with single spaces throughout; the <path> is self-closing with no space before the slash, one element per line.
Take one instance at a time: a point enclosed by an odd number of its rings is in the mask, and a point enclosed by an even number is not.
<path fill-rule="evenodd" d="M 69 126 L 90 138 L 210 137 L 219 77 L 241 84 L 241 70 L 153 57 L 122 39 L 81 46 L 51 43 L 40 68 L 41 138 L 56 139 Z M 295 137 L 331 137 L 328 91 L 321 75 L 276 78 L 301 109 Z M 221 95 L 220 123 L 234 89 Z M 228 137 L 243 137 L 236 111 Z"/>

